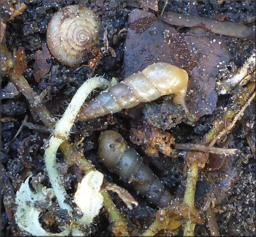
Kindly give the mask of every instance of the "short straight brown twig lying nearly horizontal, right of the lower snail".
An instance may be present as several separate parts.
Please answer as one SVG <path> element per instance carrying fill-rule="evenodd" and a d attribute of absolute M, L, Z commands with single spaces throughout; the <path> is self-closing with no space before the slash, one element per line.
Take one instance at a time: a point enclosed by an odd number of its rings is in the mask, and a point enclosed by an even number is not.
<path fill-rule="evenodd" d="M 202 152 L 209 152 L 214 154 L 236 154 L 237 149 L 229 149 L 229 148 L 220 148 L 220 147 L 209 147 L 209 146 L 203 146 L 193 143 L 176 143 L 175 149 L 181 149 L 181 150 L 190 150 L 190 151 L 202 151 Z"/>

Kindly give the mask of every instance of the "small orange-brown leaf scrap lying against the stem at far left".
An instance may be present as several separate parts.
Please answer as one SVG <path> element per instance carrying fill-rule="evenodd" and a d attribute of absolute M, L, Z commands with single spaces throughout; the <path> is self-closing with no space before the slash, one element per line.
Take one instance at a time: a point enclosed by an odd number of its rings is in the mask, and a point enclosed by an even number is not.
<path fill-rule="evenodd" d="M 17 51 L 13 51 L 14 65 L 13 72 L 17 75 L 21 75 L 27 70 L 26 54 L 24 49 L 20 47 Z"/>

